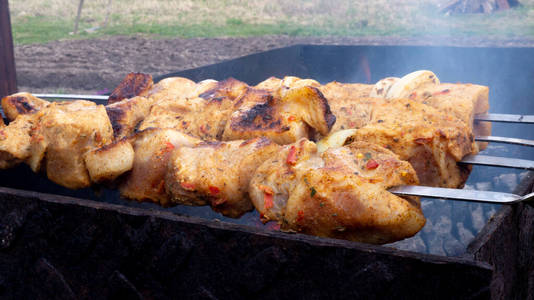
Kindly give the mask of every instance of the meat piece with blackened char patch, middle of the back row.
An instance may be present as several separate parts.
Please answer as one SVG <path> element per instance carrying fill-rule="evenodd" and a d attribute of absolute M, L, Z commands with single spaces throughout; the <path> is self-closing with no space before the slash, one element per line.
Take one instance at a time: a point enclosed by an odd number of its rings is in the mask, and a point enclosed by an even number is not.
<path fill-rule="evenodd" d="M 292 143 L 315 132 L 326 135 L 336 121 L 328 101 L 311 86 L 277 91 L 249 89 L 226 124 L 222 140 L 266 136 L 278 144 Z"/>

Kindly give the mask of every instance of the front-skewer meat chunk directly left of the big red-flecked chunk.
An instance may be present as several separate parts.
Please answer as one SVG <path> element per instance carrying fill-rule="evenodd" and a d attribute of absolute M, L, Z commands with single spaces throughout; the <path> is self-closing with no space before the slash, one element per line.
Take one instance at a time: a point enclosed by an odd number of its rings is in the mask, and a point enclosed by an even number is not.
<path fill-rule="evenodd" d="M 169 162 L 167 192 L 173 203 L 209 204 L 237 218 L 253 208 L 248 185 L 254 171 L 279 149 L 265 137 L 178 148 Z"/>

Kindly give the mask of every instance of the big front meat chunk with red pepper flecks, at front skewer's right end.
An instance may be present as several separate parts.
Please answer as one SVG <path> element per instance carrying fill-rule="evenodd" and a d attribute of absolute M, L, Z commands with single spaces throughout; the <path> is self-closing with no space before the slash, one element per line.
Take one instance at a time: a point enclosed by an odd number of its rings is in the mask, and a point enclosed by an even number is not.
<path fill-rule="evenodd" d="M 387 149 L 358 142 L 318 154 L 300 140 L 256 170 L 249 193 L 263 220 L 282 230 L 383 244 L 425 224 L 417 198 L 387 191 L 404 184 L 417 184 L 415 171 Z"/>

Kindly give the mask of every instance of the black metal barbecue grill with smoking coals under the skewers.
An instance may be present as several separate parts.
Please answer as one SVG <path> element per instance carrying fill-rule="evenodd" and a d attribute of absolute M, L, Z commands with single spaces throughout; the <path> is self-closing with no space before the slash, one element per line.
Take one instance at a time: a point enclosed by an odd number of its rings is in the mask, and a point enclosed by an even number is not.
<path fill-rule="evenodd" d="M 416 69 L 490 87 L 492 113 L 534 114 L 534 49 L 298 45 L 166 74 L 194 81 L 270 76 L 372 83 Z M 530 130 L 529 130 L 530 128 Z M 495 136 L 534 139 L 532 125 Z M 484 154 L 533 159 L 532 147 Z M 534 293 L 534 211 L 423 199 L 428 224 L 385 246 L 278 232 L 256 212 L 162 208 L 104 188 L 67 190 L 27 167 L 1 171 L 0 295 L 8 297 L 524 298 Z M 474 168 L 467 188 L 526 194 L 534 174 Z M 530 280 L 529 280 L 530 278 Z M 45 282 L 45 285 L 39 283 Z M 98 287 L 98 288 L 97 288 Z"/>

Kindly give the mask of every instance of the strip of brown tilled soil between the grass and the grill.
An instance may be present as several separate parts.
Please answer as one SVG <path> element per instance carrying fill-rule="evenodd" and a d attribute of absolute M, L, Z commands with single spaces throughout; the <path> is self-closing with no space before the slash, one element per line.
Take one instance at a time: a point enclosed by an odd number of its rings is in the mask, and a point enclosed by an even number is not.
<path fill-rule="evenodd" d="M 153 76 L 295 44 L 532 47 L 534 40 L 486 38 L 289 37 L 151 39 L 144 36 L 56 41 L 15 47 L 19 91 L 96 94 L 129 72 Z"/>

